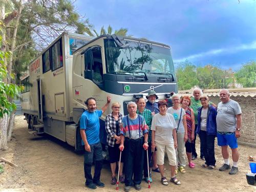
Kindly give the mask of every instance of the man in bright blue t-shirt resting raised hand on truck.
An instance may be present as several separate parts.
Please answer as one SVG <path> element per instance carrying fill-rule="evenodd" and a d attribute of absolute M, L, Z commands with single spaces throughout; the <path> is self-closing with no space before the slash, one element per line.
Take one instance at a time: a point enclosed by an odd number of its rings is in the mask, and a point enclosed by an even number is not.
<path fill-rule="evenodd" d="M 87 105 L 87 111 L 84 111 L 80 118 L 80 134 L 82 137 L 82 145 L 84 145 L 84 177 L 86 178 L 86 186 L 91 189 L 104 187 L 100 179 L 102 168 L 102 147 L 99 140 L 99 117 L 106 111 L 111 101 L 110 96 L 106 97 L 106 104 L 101 110 L 97 110 L 96 100 L 93 97 L 88 98 L 84 103 Z M 94 158 L 94 159 L 93 159 Z M 91 168 L 95 161 L 95 172 L 92 178 Z"/>

